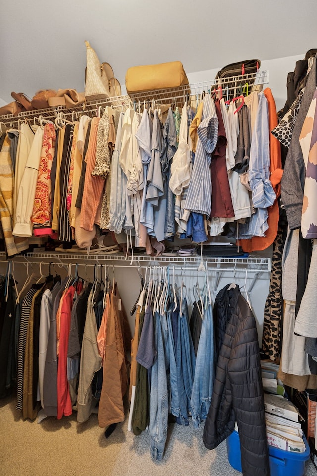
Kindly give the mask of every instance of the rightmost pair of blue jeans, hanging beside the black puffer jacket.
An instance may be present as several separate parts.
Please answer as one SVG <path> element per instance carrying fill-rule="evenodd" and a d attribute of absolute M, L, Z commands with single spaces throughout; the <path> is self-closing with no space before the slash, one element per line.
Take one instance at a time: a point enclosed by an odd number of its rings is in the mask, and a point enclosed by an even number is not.
<path fill-rule="evenodd" d="M 211 305 L 204 312 L 191 397 L 192 420 L 198 428 L 205 420 L 211 403 L 214 370 L 213 318 Z"/>

